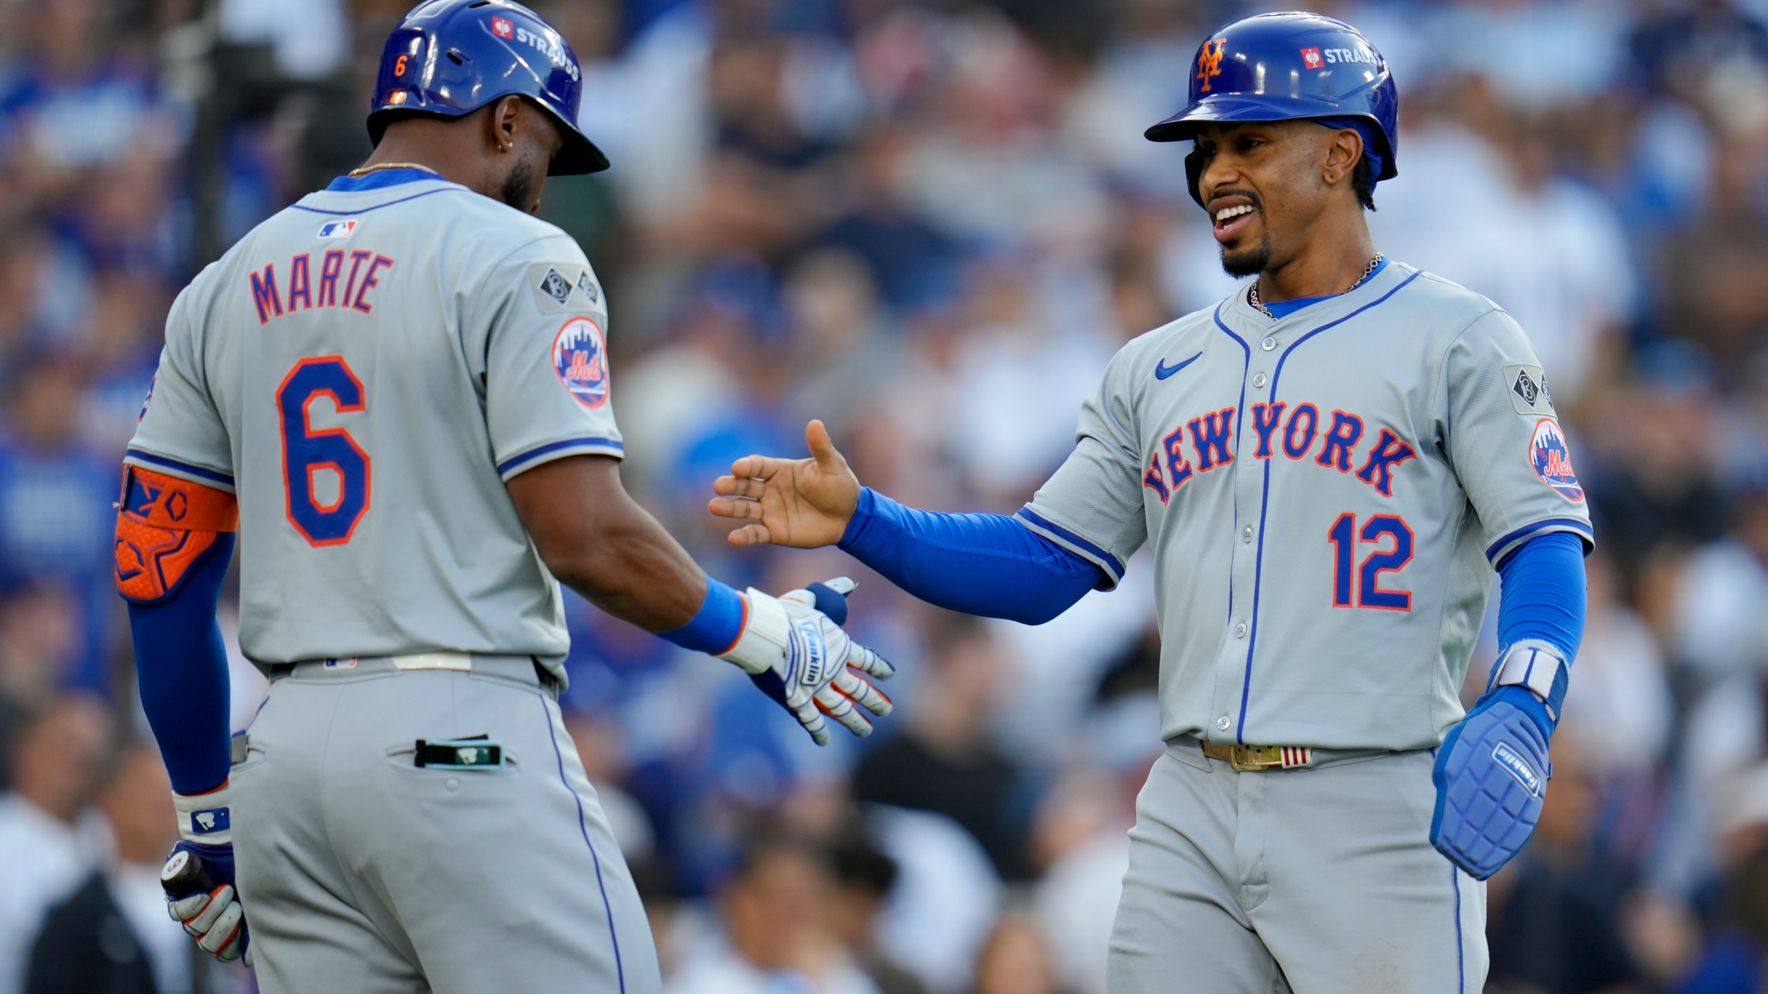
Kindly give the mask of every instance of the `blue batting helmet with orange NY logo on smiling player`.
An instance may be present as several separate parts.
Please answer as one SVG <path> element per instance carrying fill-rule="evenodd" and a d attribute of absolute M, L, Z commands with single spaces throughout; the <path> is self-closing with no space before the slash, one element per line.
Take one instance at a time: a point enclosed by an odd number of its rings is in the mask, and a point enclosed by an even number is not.
<path fill-rule="evenodd" d="M 1333 119 L 1365 136 L 1376 180 L 1384 180 L 1398 175 L 1398 110 L 1388 60 L 1361 32 L 1322 14 L 1259 14 L 1204 39 L 1192 62 L 1190 103 L 1146 136 L 1183 141 L 1211 122 Z M 1197 198 L 1202 163 L 1193 152 L 1185 164 Z"/>

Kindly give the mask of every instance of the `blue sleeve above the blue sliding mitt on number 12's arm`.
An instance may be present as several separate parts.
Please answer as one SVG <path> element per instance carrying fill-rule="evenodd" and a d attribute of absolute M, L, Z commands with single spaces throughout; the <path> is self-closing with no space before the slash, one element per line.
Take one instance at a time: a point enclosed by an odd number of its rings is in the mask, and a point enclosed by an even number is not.
<path fill-rule="evenodd" d="M 1540 638 L 1570 663 L 1584 638 L 1584 539 L 1547 532 L 1522 543 L 1497 566 L 1497 644 Z"/>

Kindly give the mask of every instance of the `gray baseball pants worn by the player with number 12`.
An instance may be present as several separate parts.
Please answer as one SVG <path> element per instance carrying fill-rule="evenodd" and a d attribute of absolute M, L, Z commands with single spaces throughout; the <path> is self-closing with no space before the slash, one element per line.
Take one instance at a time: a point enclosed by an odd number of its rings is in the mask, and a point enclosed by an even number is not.
<path fill-rule="evenodd" d="M 1485 884 L 1430 845 L 1430 750 L 1236 773 L 1174 739 L 1137 798 L 1110 994 L 1478 994 Z"/>

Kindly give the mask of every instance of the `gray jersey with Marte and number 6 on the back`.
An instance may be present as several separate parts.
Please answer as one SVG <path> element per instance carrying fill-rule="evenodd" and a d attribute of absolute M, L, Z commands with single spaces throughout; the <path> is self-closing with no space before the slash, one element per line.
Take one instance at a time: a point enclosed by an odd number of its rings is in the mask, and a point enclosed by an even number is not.
<path fill-rule="evenodd" d="M 258 663 L 568 647 L 504 481 L 619 456 L 606 308 L 559 228 L 421 170 L 339 179 L 179 295 L 131 465 L 239 495 Z"/>

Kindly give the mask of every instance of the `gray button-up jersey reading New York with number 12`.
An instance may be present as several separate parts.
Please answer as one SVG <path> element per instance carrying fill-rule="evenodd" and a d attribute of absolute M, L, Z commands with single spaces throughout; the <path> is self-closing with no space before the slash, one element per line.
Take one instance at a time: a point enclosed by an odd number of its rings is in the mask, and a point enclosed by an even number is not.
<path fill-rule="evenodd" d="M 1397 262 L 1128 343 L 1018 516 L 1114 580 L 1153 543 L 1162 738 L 1322 748 L 1441 743 L 1492 566 L 1591 536 L 1528 336 Z"/>

